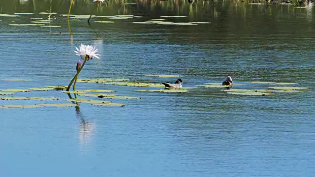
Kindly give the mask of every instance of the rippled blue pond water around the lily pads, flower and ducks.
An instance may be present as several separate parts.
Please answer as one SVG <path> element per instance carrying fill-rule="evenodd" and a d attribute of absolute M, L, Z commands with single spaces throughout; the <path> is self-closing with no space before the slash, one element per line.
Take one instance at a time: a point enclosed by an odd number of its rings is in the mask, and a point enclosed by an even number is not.
<path fill-rule="evenodd" d="M 95 5 L 90 1 L 76 0 L 71 14 L 89 15 Z M 79 78 L 161 83 L 177 78 L 146 75 L 175 74 L 185 87 L 194 87 L 230 75 L 235 83 L 290 82 L 310 92 L 244 96 L 199 88 L 158 93 L 78 83 L 77 89 L 110 89 L 141 99 L 110 100 L 125 107 L 79 103 L 77 108 L 0 109 L 1 177 L 314 176 L 314 9 L 228 1 L 130 2 L 136 4 L 111 0 L 94 15 L 143 18 L 92 18 L 89 25 L 87 19 L 68 24 L 60 16 L 68 12 L 69 0 L 1 0 L 2 13 L 34 14 L 0 16 L 0 89 L 67 85 L 79 59 L 73 50 L 83 43 L 95 45 L 100 59 L 88 61 Z M 9 26 L 47 20 L 39 13 L 50 8 L 57 13 L 51 25 L 61 28 Z M 160 17 L 174 15 L 187 17 Z M 132 23 L 161 18 L 210 24 Z M 3 81 L 21 78 L 30 81 Z M 243 84 L 234 88 L 269 87 Z M 14 96 L 68 98 L 54 90 Z M 51 102 L 0 100 L 0 105 Z"/>

